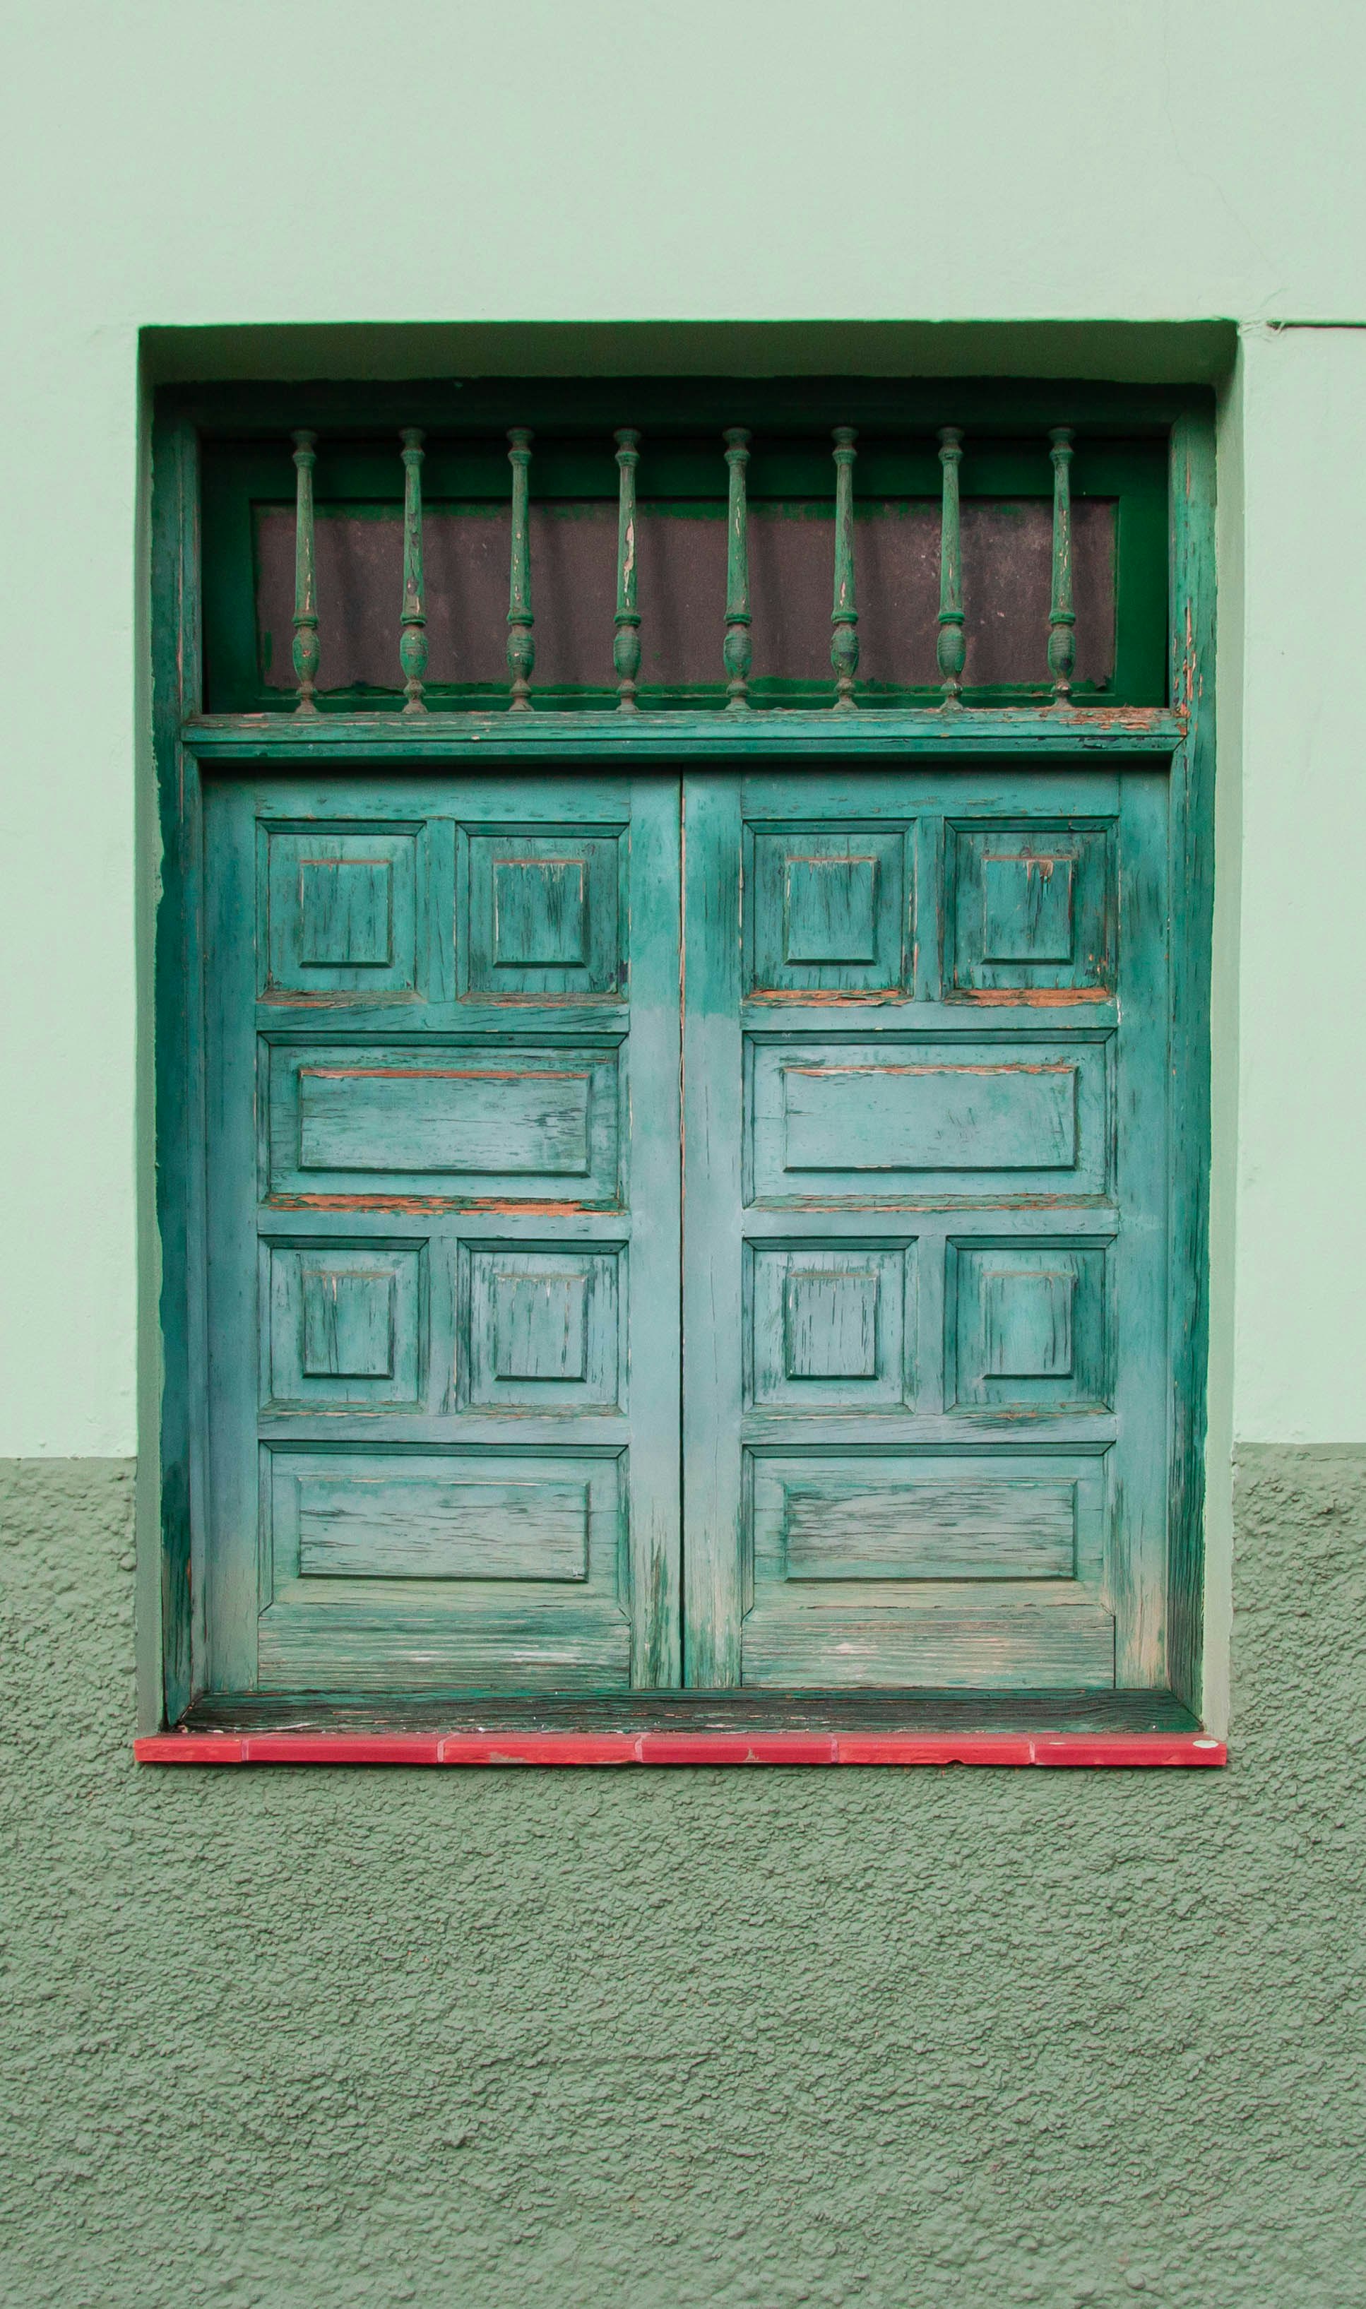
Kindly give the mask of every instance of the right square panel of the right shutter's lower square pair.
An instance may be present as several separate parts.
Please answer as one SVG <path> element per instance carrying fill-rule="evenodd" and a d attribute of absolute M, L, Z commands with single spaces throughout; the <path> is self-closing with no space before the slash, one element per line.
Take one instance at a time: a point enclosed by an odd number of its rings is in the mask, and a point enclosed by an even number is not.
<path fill-rule="evenodd" d="M 1105 1242 L 951 1242 L 944 1369 L 965 1408 L 1110 1408 Z"/>

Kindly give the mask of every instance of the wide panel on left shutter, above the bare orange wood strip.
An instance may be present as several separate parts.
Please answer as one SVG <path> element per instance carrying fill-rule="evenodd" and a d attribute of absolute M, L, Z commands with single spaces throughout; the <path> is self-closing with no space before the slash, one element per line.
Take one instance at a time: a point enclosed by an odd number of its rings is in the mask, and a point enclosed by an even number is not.
<path fill-rule="evenodd" d="M 614 1203 L 618 1053 L 275 1044 L 270 1191 Z"/>

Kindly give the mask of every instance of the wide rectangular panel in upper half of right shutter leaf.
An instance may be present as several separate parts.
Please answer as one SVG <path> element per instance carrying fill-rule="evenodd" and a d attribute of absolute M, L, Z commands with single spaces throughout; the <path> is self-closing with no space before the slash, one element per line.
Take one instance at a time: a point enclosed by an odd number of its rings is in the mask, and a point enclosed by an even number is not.
<path fill-rule="evenodd" d="M 750 1046 L 755 1201 L 1105 1191 L 1105 1044 Z"/>

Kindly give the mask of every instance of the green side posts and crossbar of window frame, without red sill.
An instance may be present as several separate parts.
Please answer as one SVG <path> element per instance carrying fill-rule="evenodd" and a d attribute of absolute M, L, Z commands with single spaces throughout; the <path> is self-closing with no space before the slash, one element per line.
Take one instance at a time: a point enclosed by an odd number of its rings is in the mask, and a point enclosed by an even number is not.
<path fill-rule="evenodd" d="M 335 388 L 342 390 L 342 388 Z M 925 388 L 914 388 L 925 399 Z M 1087 393 L 1112 420 L 1105 388 L 1043 388 L 1084 413 Z M 974 388 L 981 395 L 981 383 Z M 1041 388 L 1031 388 L 1038 399 Z M 953 388 L 935 388 L 944 406 Z M 298 399 L 279 388 L 298 423 Z M 355 406 L 365 388 L 353 393 Z M 1168 1420 L 1168 1656 L 1172 1695 L 1200 1713 L 1204 1642 L 1204 1443 L 1209 1353 L 1209 974 L 1214 921 L 1214 406 L 1207 390 L 1126 395 L 1135 423 L 1170 436 L 1170 704 L 1089 709 L 870 709 L 431 713 L 418 732 L 390 713 L 328 713 L 300 727 L 288 713 L 201 711 L 198 441 L 222 429 L 231 395 L 173 390 L 152 425 L 152 757 L 159 898 L 150 986 L 155 1104 L 155 1228 L 159 1316 L 159 1450 L 143 1452 L 141 1529 L 155 1552 L 143 1729 L 178 1723 L 198 1697 L 205 1533 L 205 1111 L 203 1111 L 203 776 L 224 764 L 371 774 L 418 762 L 482 776 L 577 767 L 683 771 L 745 764 L 858 767 L 990 762 L 1059 769 L 1105 760 L 1170 764 L 1172 854 L 1172 1131 Z M 1008 406 L 1008 397 L 1001 395 Z M 623 727 L 625 723 L 625 727 Z M 969 1702 L 976 1695 L 965 1695 Z M 572 1713 L 568 1709 L 565 1713 Z M 992 1720 L 990 1695 L 978 1716 Z"/>

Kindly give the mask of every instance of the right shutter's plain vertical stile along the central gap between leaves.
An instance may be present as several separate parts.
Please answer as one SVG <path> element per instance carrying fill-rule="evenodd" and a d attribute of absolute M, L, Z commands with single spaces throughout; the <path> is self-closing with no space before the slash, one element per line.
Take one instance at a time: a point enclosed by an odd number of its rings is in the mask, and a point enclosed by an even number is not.
<path fill-rule="evenodd" d="M 741 780 L 683 778 L 683 1681 L 738 1686 Z"/>

